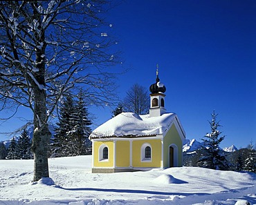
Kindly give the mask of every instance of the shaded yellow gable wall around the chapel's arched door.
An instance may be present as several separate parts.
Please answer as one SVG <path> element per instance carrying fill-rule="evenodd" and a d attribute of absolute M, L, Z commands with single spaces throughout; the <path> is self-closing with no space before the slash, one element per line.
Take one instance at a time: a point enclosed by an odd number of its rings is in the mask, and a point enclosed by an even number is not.
<path fill-rule="evenodd" d="M 176 126 L 172 124 L 170 130 L 168 130 L 167 134 L 163 138 L 163 167 L 169 167 L 169 147 L 171 144 L 175 144 L 178 148 L 178 164 L 177 166 L 183 166 L 183 142 L 181 137 L 176 129 Z"/>

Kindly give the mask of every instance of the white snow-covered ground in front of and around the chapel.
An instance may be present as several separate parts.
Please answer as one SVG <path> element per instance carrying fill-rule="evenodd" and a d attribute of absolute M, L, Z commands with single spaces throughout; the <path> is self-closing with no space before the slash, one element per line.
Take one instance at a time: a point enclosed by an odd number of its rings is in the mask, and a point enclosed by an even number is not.
<path fill-rule="evenodd" d="M 91 173 L 91 156 L 49 159 L 51 178 L 33 179 L 33 160 L 0 160 L 0 204 L 256 204 L 256 175 L 205 168 Z"/>

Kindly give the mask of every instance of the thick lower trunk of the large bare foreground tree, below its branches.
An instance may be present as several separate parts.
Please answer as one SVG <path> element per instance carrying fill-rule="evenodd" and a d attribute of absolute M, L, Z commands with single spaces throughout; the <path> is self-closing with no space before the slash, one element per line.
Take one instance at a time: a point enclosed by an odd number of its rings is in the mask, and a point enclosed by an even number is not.
<path fill-rule="evenodd" d="M 35 88 L 35 113 L 32 151 L 34 153 L 34 179 L 36 182 L 42 177 L 49 177 L 48 143 L 51 133 L 46 121 L 46 93 L 45 90 Z"/>

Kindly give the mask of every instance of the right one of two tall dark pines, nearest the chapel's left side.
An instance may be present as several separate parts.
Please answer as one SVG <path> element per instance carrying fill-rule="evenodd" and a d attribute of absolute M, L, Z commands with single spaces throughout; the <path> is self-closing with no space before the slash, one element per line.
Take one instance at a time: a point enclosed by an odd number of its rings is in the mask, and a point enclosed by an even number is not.
<path fill-rule="evenodd" d="M 91 147 L 91 141 L 89 135 L 91 135 L 91 120 L 89 119 L 89 113 L 84 105 L 83 92 L 77 95 L 77 104 L 75 105 L 74 127 L 71 132 L 71 139 L 73 144 L 73 155 L 85 155 L 86 149 Z"/>

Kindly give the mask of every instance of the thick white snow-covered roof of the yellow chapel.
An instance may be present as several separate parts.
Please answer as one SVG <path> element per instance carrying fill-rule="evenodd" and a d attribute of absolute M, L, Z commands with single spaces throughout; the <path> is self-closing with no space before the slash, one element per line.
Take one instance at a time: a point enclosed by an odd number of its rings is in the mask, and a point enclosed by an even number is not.
<path fill-rule="evenodd" d="M 174 119 L 178 120 L 174 113 L 165 113 L 158 117 L 121 113 L 93 130 L 90 139 L 162 135 L 169 130 Z"/>

